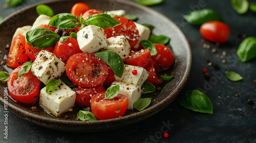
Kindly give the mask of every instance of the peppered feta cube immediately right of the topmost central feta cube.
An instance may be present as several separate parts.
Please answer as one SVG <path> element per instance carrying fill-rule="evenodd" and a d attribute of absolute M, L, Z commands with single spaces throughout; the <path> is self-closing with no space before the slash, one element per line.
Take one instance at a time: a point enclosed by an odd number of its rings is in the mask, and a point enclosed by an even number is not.
<path fill-rule="evenodd" d="M 114 36 L 106 39 L 107 46 L 104 49 L 115 51 L 122 59 L 129 56 L 131 46 L 124 36 Z"/>

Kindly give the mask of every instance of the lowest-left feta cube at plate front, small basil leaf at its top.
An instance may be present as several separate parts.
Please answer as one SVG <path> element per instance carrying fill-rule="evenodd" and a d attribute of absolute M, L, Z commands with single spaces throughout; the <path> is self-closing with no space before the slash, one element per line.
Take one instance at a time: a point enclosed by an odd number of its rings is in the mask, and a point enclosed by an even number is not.
<path fill-rule="evenodd" d="M 40 91 L 39 104 L 45 107 L 51 114 L 60 116 L 75 106 L 76 92 L 65 83 L 53 88 L 49 93 L 46 87 Z"/>

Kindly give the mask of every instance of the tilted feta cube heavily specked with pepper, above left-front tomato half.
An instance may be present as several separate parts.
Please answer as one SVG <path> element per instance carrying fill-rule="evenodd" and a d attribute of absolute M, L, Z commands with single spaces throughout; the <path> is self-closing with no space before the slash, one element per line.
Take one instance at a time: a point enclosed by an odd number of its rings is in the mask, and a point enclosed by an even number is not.
<path fill-rule="evenodd" d="M 51 79 L 58 79 L 65 70 L 65 63 L 45 50 L 38 53 L 31 66 L 32 73 L 44 84 Z"/>

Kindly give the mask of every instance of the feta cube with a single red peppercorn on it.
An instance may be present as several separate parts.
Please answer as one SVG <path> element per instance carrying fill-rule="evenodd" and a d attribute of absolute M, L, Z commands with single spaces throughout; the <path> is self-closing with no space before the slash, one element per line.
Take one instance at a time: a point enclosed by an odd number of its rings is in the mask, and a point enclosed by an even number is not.
<path fill-rule="evenodd" d="M 124 64 L 122 77 L 118 78 L 115 75 L 115 79 L 116 81 L 127 82 L 141 86 L 149 75 L 150 74 L 148 71 L 142 67 Z"/>

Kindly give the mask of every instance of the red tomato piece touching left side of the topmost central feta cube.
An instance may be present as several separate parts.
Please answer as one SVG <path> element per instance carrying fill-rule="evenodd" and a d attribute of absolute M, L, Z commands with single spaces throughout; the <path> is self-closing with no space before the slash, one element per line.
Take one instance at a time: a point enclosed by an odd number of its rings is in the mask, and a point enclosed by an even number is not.
<path fill-rule="evenodd" d="M 83 53 L 78 45 L 78 42 L 75 38 L 69 37 L 65 43 L 60 42 L 56 43 L 53 53 L 55 56 L 65 64 L 67 64 L 69 58 L 78 53 Z"/>

